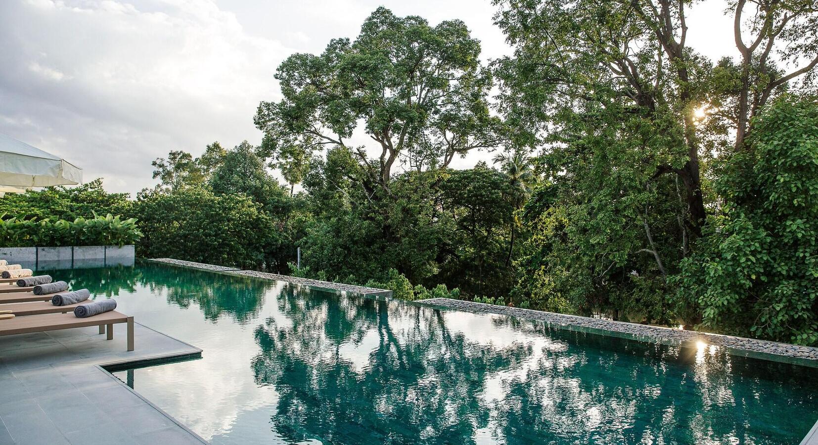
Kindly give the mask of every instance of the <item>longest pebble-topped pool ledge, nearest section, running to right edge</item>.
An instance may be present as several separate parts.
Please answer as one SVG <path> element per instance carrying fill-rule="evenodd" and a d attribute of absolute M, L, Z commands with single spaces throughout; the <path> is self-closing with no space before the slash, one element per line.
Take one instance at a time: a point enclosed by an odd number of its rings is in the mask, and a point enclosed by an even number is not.
<path fill-rule="evenodd" d="M 774 341 L 745 339 L 731 335 L 708 334 L 694 330 L 679 330 L 661 326 L 640 325 L 625 321 L 579 317 L 533 309 L 509 308 L 495 304 L 474 303 L 459 299 L 425 299 L 418 303 L 438 308 L 450 308 L 468 312 L 494 313 L 510 317 L 542 320 L 567 329 L 592 331 L 603 335 L 616 335 L 671 346 L 693 346 L 699 342 L 727 348 L 730 353 L 745 357 L 763 358 L 775 362 L 818 367 L 818 348 L 778 343 Z M 576 330 L 576 329 L 575 329 Z"/>

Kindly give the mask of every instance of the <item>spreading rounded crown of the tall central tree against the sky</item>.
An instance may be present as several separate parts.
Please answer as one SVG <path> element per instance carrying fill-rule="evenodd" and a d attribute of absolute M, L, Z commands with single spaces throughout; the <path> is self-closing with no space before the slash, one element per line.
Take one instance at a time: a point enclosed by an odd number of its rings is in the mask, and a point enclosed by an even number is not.
<path fill-rule="evenodd" d="M 283 98 L 262 102 L 255 124 L 280 163 L 329 146 L 359 165 L 357 187 L 388 192 L 401 162 L 418 171 L 447 167 L 456 155 L 500 143 L 479 54 L 460 20 L 430 26 L 379 7 L 354 41 L 336 38 L 319 56 L 287 58 L 276 73 Z M 373 143 L 350 142 L 356 132 Z"/>

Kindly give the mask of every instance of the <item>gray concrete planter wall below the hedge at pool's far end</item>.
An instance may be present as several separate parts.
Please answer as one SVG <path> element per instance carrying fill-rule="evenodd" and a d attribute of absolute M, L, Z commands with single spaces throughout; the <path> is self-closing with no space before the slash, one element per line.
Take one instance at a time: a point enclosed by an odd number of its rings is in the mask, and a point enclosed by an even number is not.
<path fill-rule="evenodd" d="M 116 264 L 133 266 L 135 258 L 133 245 L 0 248 L 0 259 L 33 269 L 102 267 Z"/>

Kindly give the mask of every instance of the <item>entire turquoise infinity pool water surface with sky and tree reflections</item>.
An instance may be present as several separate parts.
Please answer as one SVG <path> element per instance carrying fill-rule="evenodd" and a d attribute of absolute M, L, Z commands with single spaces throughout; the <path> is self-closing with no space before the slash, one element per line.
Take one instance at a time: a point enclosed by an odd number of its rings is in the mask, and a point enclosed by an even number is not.
<path fill-rule="evenodd" d="M 52 273 L 204 350 L 115 375 L 217 444 L 792 444 L 818 419 L 816 369 L 717 348 L 152 263 Z"/>

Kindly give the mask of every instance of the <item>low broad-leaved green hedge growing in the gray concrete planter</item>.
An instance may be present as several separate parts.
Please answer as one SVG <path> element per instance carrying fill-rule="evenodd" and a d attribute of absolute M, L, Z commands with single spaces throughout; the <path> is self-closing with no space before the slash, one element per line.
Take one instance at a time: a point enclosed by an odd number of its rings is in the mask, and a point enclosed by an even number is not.
<path fill-rule="evenodd" d="M 134 218 L 121 219 L 111 214 L 105 217 L 37 220 L 0 216 L 0 246 L 38 247 L 70 245 L 126 245 L 142 237 Z"/>

